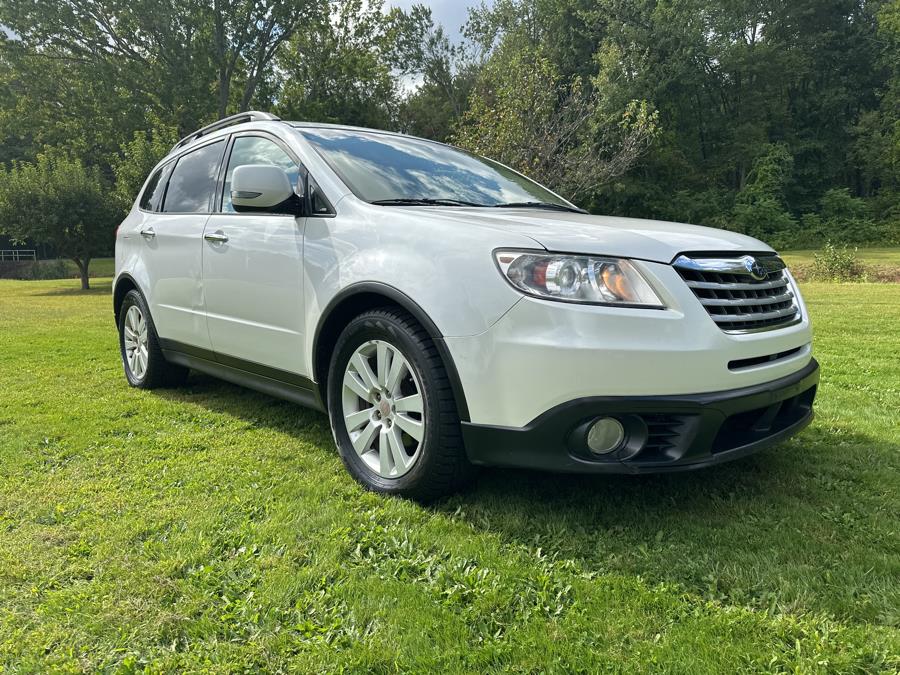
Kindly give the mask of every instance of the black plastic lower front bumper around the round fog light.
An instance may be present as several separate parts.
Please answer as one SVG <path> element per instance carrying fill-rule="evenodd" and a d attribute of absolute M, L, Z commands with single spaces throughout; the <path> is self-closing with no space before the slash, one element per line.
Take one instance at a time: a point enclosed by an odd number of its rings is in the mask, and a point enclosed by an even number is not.
<path fill-rule="evenodd" d="M 696 469 L 782 442 L 813 418 L 815 359 L 771 382 L 706 394 L 587 397 L 558 405 L 525 427 L 463 424 L 469 459 L 480 465 L 579 473 Z M 590 453 L 587 428 L 615 417 L 628 439 L 605 456 Z"/>

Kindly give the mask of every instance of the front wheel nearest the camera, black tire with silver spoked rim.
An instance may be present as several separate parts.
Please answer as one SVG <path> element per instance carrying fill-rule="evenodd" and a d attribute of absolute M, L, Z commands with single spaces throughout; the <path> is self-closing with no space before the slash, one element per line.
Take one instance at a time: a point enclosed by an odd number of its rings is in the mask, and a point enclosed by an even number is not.
<path fill-rule="evenodd" d="M 328 414 L 341 459 L 369 490 L 430 501 L 473 474 L 444 364 L 403 310 L 365 312 L 341 333 L 328 371 Z"/>

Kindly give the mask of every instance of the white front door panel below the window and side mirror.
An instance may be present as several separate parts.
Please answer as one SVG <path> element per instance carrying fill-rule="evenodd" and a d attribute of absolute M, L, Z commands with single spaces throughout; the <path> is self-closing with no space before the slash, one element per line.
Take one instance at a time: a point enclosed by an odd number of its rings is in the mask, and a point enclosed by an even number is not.
<path fill-rule="evenodd" d="M 218 354 L 308 375 L 303 354 L 302 218 L 213 214 L 203 286 Z M 223 241 L 227 237 L 227 241 Z"/>

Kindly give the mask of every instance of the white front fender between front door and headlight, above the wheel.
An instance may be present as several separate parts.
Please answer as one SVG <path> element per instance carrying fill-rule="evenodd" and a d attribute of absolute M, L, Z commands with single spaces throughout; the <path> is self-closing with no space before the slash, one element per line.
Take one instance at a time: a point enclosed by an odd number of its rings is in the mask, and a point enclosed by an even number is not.
<path fill-rule="evenodd" d="M 533 248 L 534 242 L 394 210 L 376 218 L 310 218 L 304 242 L 306 334 L 315 335 L 325 309 L 344 289 L 372 282 L 408 297 L 442 337 L 483 333 L 522 297 L 497 270 L 497 247 Z"/>

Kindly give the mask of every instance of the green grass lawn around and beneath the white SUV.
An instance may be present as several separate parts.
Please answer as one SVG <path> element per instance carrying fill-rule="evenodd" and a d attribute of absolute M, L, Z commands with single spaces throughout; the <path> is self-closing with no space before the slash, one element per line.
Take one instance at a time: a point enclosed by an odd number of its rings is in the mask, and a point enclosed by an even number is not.
<path fill-rule="evenodd" d="M 896 672 L 900 285 L 805 286 L 793 441 L 362 491 L 324 416 L 126 386 L 109 282 L 0 282 L 0 670 Z"/>

